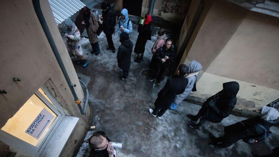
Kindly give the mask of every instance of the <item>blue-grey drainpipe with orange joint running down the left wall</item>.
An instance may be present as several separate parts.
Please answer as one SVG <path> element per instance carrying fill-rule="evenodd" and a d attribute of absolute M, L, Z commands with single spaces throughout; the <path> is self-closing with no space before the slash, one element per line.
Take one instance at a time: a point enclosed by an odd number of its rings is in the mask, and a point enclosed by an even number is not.
<path fill-rule="evenodd" d="M 72 94 L 73 94 L 73 96 L 75 98 L 75 104 L 77 104 L 80 113 L 84 115 L 85 112 L 86 112 L 87 105 L 88 105 L 88 99 L 85 102 L 84 110 L 82 110 L 82 107 L 80 105 L 81 101 L 79 100 L 79 98 L 77 98 L 77 94 L 75 93 L 75 90 L 73 88 L 74 84 L 71 83 L 70 77 L 69 77 L 69 75 L 67 73 L 67 70 L 66 70 L 66 68 L 65 68 L 65 66 L 63 64 L 63 61 L 61 59 L 61 56 L 60 56 L 60 54 L 59 54 L 59 52 L 57 50 L 57 47 L 56 47 L 55 42 L 53 40 L 53 37 L 52 37 L 52 35 L 51 35 L 50 31 L 49 31 L 49 28 L 47 26 L 47 22 L 45 21 L 45 17 L 43 16 L 43 12 L 41 10 L 41 5 L 40 5 L 40 0 L 32 0 L 32 3 L 33 3 L 34 10 L 35 10 L 35 12 L 37 14 L 37 17 L 38 17 L 38 19 L 39 19 L 39 21 L 41 23 L 42 28 L 43 28 L 43 31 L 45 32 L 45 36 L 47 37 L 49 45 L 50 45 L 50 47 L 51 47 L 51 49 L 52 49 L 52 51 L 53 51 L 53 53 L 54 53 L 54 55 L 55 55 L 55 57 L 57 59 L 57 62 L 58 62 L 59 66 L 60 66 L 60 68 L 62 70 L 62 73 L 63 73 L 63 75 L 64 75 L 64 77 L 65 77 L 65 79 L 66 79 L 66 81 L 68 83 L 68 86 L 69 86 L 69 88 L 70 88 L 70 90 L 71 90 L 71 92 L 72 92 Z M 79 81 L 81 81 L 81 80 L 79 80 Z M 83 85 L 85 85 L 85 84 L 83 83 Z M 85 85 L 85 88 L 87 89 L 86 85 Z M 87 98 L 88 98 L 88 96 L 89 96 L 89 94 L 88 94 L 88 89 L 87 89 Z"/>

